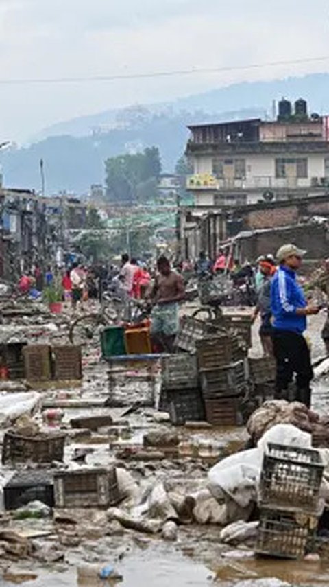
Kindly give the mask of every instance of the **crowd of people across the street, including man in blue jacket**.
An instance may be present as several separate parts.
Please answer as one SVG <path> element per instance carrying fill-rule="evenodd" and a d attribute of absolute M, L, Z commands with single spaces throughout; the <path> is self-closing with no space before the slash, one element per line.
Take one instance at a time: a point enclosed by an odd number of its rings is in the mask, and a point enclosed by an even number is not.
<path fill-rule="evenodd" d="M 156 268 L 148 268 L 127 254 L 122 255 L 121 265 L 108 267 L 102 264 L 86 267 L 73 262 L 66 268 L 51 266 L 42 271 L 36 264 L 32 271 L 24 273 L 19 280 L 19 292 L 32 297 L 42 295 L 47 288 L 60 290 L 62 301 L 73 308 L 88 298 L 100 299 L 104 291 L 112 291 L 123 300 L 145 299 L 151 306 L 151 336 L 154 348 L 173 351 L 173 342 L 178 332 L 178 303 L 185 297 L 184 273 L 198 278 L 204 275 L 226 274 L 252 281 L 256 291 L 256 306 L 253 321 L 260 317 L 260 341 L 264 356 L 276 359 L 276 398 L 296 399 L 310 406 L 310 381 L 313 369 L 310 350 L 304 332 L 307 316 L 318 314 L 321 303 L 307 299 L 306 288 L 298 279 L 299 270 L 306 251 L 293 244 L 285 244 L 273 255 L 259 257 L 256 266 L 246 263 L 243 267 L 232 255 L 219 251 L 215 261 L 204 253 L 195 263 L 186 260 L 179 271 L 171 268 L 167 257 L 161 256 Z M 329 260 L 308 282 L 308 287 L 319 288 L 329 295 Z M 327 317 L 322 337 L 329 354 L 329 318 Z M 295 376 L 295 392 L 291 397 L 291 382 Z"/>

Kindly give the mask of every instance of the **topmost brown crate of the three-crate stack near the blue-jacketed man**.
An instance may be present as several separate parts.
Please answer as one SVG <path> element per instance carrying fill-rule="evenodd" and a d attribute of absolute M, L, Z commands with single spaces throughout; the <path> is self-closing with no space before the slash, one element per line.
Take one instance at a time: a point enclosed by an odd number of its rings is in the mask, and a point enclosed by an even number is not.
<path fill-rule="evenodd" d="M 196 342 L 199 369 L 219 369 L 243 358 L 237 338 L 214 336 Z"/>

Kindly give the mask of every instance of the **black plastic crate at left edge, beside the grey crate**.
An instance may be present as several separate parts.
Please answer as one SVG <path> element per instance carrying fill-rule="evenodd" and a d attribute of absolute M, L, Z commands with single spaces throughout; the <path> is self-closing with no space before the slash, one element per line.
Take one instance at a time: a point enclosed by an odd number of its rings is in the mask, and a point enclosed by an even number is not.
<path fill-rule="evenodd" d="M 36 500 L 53 507 L 53 475 L 46 470 L 17 472 L 3 487 L 3 497 L 5 509 L 17 509 Z"/>

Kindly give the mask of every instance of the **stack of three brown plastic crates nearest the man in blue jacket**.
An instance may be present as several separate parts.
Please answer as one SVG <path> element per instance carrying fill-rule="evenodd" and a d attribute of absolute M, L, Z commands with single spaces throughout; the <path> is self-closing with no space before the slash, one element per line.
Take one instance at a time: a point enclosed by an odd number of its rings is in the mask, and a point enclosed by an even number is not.
<path fill-rule="evenodd" d="M 239 339 L 223 334 L 195 344 L 207 421 L 214 426 L 242 424 L 239 408 L 247 373 Z"/>

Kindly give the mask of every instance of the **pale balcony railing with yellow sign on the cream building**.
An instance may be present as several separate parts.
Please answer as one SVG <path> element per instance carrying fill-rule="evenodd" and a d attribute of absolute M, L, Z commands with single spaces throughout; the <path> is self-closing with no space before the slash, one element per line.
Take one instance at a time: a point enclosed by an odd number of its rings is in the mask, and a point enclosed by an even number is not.
<path fill-rule="evenodd" d="M 231 189 L 297 189 L 303 187 L 328 187 L 329 179 L 322 177 L 273 177 L 268 175 L 253 176 L 251 178 L 217 178 L 210 173 L 188 176 L 187 189 L 191 190 L 231 190 Z"/>

